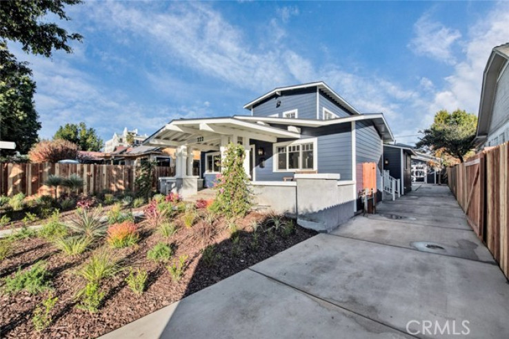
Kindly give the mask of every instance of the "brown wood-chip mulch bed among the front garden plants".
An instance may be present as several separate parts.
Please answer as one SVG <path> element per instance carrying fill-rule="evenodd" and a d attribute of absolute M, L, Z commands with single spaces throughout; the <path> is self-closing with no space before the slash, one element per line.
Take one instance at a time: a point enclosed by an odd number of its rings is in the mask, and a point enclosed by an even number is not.
<path fill-rule="evenodd" d="M 106 298 L 96 314 L 74 307 L 76 303 L 74 294 L 83 287 L 84 282 L 74 276 L 72 271 L 86 262 L 97 249 L 70 257 L 54 249 L 46 240 L 40 238 L 19 240 L 15 244 L 14 254 L 0 263 L 0 278 L 14 274 L 19 267 L 25 269 L 38 260 L 46 260 L 52 273 L 53 294 L 58 297 L 58 302 L 52 310 L 53 322 L 50 327 L 36 332 L 31 321 L 32 314 L 35 307 L 48 297 L 49 292 L 36 296 L 30 296 L 26 292 L 0 295 L 2 307 L 0 338 L 97 338 L 316 234 L 299 226 L 295 227 L 294 234 L 287 237 L 283 237 L 280 232 L 270 234 L 260 229 L 257 232 L 258 245 L 255 247 L 250 225 L 253 221 L 262 222 L 266 218 L 264 214 L 251 212 L 239 220 L 236 224 L 240 237 L 237 245 L 232 243 L 226 221 L 222 219 L 214 221 L 216 234 L 210 240 L 204 240 L 199 235 L 198 229 L 202 221 L 190 229 L 179 225 L 177 234 L 170 238 L 164 238 L 158 232 L 154 232 L 155 230 L 146 223 L 138 224 L 141 234 L 139 244 L 111 251 L 123 258 L 123 265 L 126 267 L 141 267 L 148 271 L 146 292 L 141 296 L 134 294 L 125 283 L 128 270 L 122 271 L 102 283 Z M 180 221 L 177 223 L 180 224 Z M 171 279 L 166 265 L 153 263 L 146 258 L 147 251 L 160 241 L 174 247 L 172 260 L 183 254 L 188 255 L 188 267 L 178 283 Z M 209 266 L 201 260 L 201 249 L 212 243 L 216 244 L 216 253 L 220 257 Z"/>

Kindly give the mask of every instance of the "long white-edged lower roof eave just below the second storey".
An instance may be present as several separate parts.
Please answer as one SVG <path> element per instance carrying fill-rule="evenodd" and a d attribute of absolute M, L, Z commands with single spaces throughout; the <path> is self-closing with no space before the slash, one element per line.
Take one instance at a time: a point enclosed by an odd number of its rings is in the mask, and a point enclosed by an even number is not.
<path fill-rule="evenodd" d="M 245 121 L 255 121 L 259 123 L 276 123 L 281 125 L 292 125 L 292 126 L 305 126 L 305 127 L 322 127 L 328 125 L 336 125 L 339 123 L 350 123 L 352 121 L 372 121 L 377 130 L 379 130 L 384 143 L 390 143 L 394 141 L 394 136 L 390 130 L 390 127 L 386 121 L 383 113 L 368 113 L 368 114 L 357 114 L 352 116 L 346 116 L 344 118 L 328 119 L 328 120 L 316 120 L 316 119 L 289 119 L 289 118 L 275 118 L 270 116 L 248 116 L 248 115 L 236 115 L 236 119 Z"/>

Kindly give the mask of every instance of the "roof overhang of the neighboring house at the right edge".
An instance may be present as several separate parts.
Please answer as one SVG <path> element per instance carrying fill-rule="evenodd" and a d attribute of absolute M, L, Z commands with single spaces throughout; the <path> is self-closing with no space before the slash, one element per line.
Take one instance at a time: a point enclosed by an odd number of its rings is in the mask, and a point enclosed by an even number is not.
<path fill-rule="evenodd" d="M 481 90 L 481 102 L 477 116 L 477 142 L 481 143 L 490 130 L 491 116 L 493 114 L 493 102 L 497 90 L 497 79 L 500 71 L 509 60 L 509 43 L 499 45 L 491 51 L 483 74 L 483 87 Z"/>

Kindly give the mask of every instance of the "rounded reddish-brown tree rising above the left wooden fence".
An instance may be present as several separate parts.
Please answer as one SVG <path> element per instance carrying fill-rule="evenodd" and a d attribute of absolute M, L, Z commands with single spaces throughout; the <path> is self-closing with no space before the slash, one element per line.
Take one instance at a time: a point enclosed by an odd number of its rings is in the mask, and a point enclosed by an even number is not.
<path fill-rule="evenodd" d="M 63 139 L 43 140 L 28 152 L 32 163 L 57 163 L 65 159 L 75 159 L 77 156 L 78 146 Z"/>

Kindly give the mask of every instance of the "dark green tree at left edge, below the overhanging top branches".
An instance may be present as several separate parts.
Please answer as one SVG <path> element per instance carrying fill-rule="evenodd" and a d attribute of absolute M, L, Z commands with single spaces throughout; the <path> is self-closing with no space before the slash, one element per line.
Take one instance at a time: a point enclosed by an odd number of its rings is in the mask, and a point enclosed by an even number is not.
<path fill-rule="evenodd" d="M 14 141 L 21 154 L 26 154 L 37 142 L 37 131 L 41 129 L 34 93 L 35 83 L 27 63 L 17 62 L 0 41 L 0 139 Z M 2 150 L 5 155 L 14 152 Z"/>

